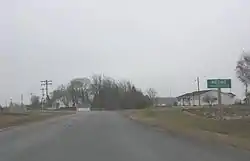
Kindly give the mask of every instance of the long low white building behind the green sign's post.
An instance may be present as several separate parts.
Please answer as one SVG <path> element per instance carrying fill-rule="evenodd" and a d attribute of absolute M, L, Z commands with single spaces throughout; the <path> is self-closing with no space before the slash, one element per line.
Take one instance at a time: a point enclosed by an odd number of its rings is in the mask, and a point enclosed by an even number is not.
<path fill-rule="evenodd" d="M 218 104 L 218 91 L 217 90 L 202 90 L 195 91 L 191 93 L 183 94 L 177 97 L 178 105 L 181 106 L 197 106 L 199 105 L 199 96 L 201 105 L 208 105 L 209 103 L 204 101 L 205 96 L 211 96 L 216 98 L 216 100 L 212 103 L 213 105 Z M 223 105 L 232 105 L 236 101 L 235 94 L 221 92 L 221 104 Z"/>

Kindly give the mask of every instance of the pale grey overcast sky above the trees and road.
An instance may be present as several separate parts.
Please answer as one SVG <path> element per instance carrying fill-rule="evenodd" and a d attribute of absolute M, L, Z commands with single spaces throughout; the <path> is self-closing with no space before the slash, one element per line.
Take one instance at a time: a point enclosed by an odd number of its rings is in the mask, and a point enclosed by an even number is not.
<path fill-rule="evenodd" d="M 104 73 L 177 96 L 235 77 L 250 50 L 249 0 L 2 0 L 0 103 Z M 171 92 L 170 92 L 171 91 Z M 229 91 L 229 90 L 226 90 Z"/>

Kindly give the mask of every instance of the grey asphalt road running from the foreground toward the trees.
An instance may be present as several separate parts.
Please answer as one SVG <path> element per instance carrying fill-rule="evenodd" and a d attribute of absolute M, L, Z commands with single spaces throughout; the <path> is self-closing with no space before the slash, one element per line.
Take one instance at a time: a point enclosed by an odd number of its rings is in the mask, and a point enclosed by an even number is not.
<path fill-rule="evenodd" d="M 82 112 L 0 132 L 0 161 L 249 161 L 250 152 Z"/>

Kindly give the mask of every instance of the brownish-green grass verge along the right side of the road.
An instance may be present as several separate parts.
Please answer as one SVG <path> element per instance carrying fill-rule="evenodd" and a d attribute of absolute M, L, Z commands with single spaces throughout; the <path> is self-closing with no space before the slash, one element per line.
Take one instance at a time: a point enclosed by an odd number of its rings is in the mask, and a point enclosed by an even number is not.
<path fill-rule="evenodd" d="M 181 109 L 145 109 L 130 113 L 138 121 L 203 140 L 223 141 L 250 150 L 250 119 L 215 120 L 185 114 Z"/>

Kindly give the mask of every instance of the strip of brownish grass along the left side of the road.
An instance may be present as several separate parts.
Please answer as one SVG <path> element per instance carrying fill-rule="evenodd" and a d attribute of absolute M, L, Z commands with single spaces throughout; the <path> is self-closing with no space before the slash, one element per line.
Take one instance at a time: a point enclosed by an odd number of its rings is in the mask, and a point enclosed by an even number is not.
<path fill-rule="evenodd" d="M 0 113 L 0 129 L 10 126 L 17 126 L 25 123 L 42 121 L 48 118 L 62 116 L 71 113 L 64 112 L 29 112 L 25 114 Z"/>

